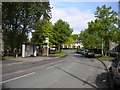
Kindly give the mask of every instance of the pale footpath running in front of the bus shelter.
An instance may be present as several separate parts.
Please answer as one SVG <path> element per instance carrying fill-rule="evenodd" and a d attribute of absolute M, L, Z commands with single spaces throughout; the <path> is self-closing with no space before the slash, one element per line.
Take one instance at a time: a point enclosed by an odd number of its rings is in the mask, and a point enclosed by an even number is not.
<path fill-rule="evenodd" d="M 38 57 L 18 57 L 18 58 L 13 58 L 13 59 L 6 59 L 2 60 L 2 63 L 0 66 L 5 67 L 5 66 L 13 66 L 13 65 L 18 65 L 18 64 L 25 64 L 25 63 L 30 63 L 30 62 L 36 62 L 36 61 L 42 61 L 42 60 L 52 60 L 52 59 L 57 59 L 61 58 L 63 56 L 49 56 L 49 57 L 43 57 L 43 56 L 38 56 Z"/>

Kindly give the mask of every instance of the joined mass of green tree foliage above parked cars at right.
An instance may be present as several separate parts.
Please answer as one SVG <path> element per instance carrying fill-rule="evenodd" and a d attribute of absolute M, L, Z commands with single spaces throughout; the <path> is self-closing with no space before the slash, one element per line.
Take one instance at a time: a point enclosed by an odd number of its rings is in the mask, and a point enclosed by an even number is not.
<path fill-rule="evenodd" d="M 82 31 L 80 37 L 85 47 L 99 49 L 101 43 L 104 42 L 104 50 L 108 51 L 109 42 L 120 36 L 120 29 L 116 27 L 119 21 L 117 13 L 105 5 L 96 9 L 96 20 L 88 23 L 88 29 Z"/>

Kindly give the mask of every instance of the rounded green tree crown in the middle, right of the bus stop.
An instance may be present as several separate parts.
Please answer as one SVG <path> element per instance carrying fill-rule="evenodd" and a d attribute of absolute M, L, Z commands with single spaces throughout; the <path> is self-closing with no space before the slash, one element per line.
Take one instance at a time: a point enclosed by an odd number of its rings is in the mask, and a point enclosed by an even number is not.
<path fill-rule="evenodd" d="M 70 25 L 63 21 L 63 20 L 58 20 L 53 27 L 54 31 L 54 45 L 61 47 L 63 43 L 65 43 L 69 36 L 72 34 L 72 29 L 70 28 Z"/>

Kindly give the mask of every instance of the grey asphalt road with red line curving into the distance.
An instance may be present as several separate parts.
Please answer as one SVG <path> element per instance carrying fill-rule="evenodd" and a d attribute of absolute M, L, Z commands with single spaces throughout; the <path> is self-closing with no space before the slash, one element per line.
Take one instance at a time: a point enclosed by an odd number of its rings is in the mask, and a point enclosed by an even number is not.
<path fill-rule="evenodd" d="M 102 63 L 74 51 L 68 56 L 3 67 L 2 88 L 109 88 Z"/>

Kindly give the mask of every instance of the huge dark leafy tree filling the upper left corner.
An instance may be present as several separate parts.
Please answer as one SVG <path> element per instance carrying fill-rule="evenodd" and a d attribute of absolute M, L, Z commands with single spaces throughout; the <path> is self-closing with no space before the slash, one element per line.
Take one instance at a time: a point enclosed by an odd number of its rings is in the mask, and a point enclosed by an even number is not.
<path fill-rule="evenodd" d="M 5 50 L 19 50 L 28 40 L 32 25 L 41 18 L 51 18 L 49 2 L 3 2 L 2 28 Z"/>

